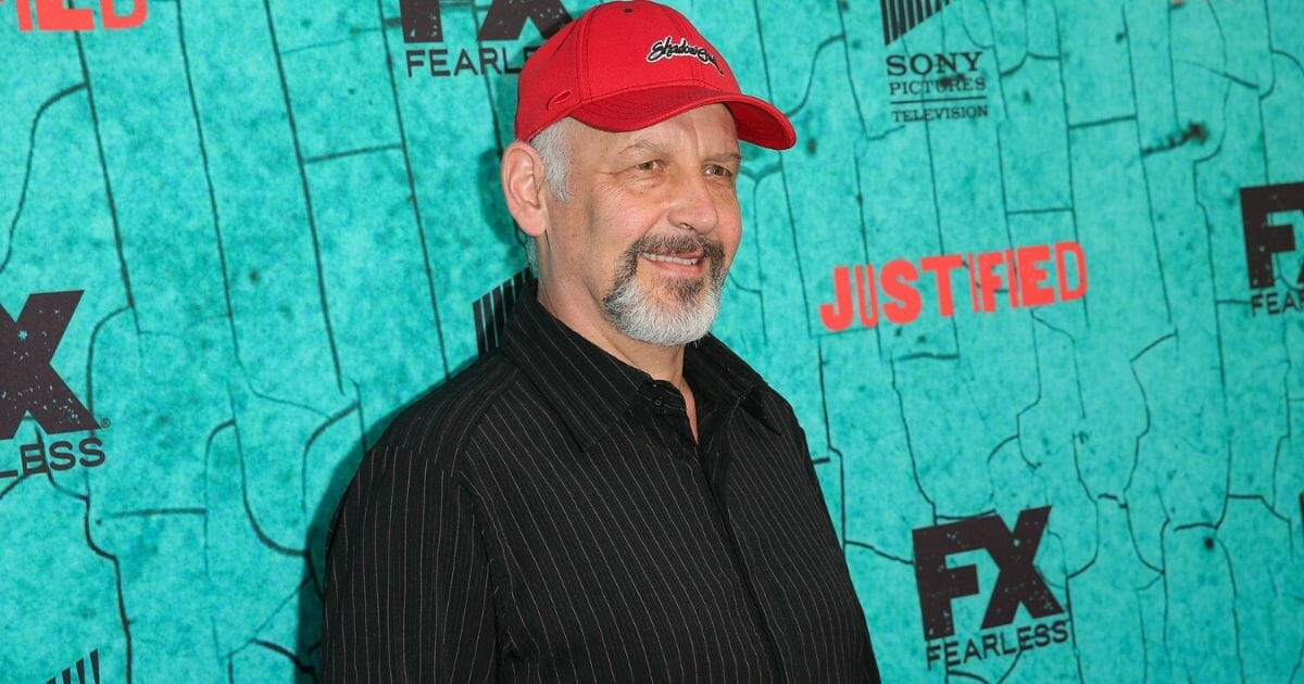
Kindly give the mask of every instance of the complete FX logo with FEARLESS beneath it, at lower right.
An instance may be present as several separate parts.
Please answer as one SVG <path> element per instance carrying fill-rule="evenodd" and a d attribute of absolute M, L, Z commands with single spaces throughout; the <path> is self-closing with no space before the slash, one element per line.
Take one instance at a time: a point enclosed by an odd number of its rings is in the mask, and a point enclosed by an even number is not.
<path fill-rule="evenodd" d="M 1013 530 L 995 515 L 914 530 L 914 575 L 928 670 L 934 664 L 948 671 L 971 667 L 1071 638 L 1072 620 L 1033 563 L 1050 513 L 1048 506 L 1022 511 Z M 996 584 L 982 624 L 977 629 L 962 624 L 957 636 L 953 602 L 978 594 L 978 567 L 948 559 L 969 551 L 986 551 L 991 556 Z M 1020 606 L 1031 620 L 1018 620 L 1022 624 L 1015 625 Z"/>

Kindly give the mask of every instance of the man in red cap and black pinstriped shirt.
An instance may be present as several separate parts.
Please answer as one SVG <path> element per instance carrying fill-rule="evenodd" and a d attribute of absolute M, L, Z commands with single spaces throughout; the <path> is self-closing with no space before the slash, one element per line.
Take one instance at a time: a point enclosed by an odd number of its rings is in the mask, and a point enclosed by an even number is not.
<path fill-rule="evenodd" d="M 793 410 L 707 335 L 738 139 L 792 125 L 643 0 L 562 29 L 519 87 L 502 184 L 537 301 L 346 491 L 326 680 L 876 681 Z"/>

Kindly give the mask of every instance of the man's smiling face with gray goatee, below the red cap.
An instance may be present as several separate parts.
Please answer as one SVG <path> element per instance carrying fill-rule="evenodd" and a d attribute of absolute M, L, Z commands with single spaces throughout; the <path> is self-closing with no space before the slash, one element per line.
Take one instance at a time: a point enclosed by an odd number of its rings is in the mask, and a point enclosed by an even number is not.
<path fill-rule="evenodd" d="M 630 133 L 572 122 L 570 159 L 571 199 L 549 206 L 541 296 L 554 313 L 651 344 L 705 335 L 742 235 L 729 109 Z"/>

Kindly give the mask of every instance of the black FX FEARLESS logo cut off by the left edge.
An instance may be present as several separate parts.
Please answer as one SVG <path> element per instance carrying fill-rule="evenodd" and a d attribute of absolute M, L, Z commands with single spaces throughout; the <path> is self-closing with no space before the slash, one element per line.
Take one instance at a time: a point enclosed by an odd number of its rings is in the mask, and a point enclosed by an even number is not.
<path fill-rule="evenodd" d="M 33 442 L 18 446 L 17 464 L 0 452 L 0 481 L 104 463 L 104 443 L 94 434 L 47 439 L 108 426 L 51 365 L 81 297 L 80 289 L 31 294 L 17 318 L 0 306 L 0 440 L 13 439 L 27 414 L 39 426 Z"/>

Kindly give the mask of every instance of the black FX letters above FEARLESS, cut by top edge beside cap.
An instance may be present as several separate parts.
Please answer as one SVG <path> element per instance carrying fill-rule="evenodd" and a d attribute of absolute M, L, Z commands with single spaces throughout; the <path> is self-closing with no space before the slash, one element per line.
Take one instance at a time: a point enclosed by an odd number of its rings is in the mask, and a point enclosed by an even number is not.
<path fill-rule="evenodd" d="M 399 0 L 404 43 L 442 43 L 443 22 L 441 0 Z M 561 0 L 493 0 L 476 40 L 515 40 L 526 27 L 526 20 L 544 38 L 550 38 L 570 21 Z"/>

